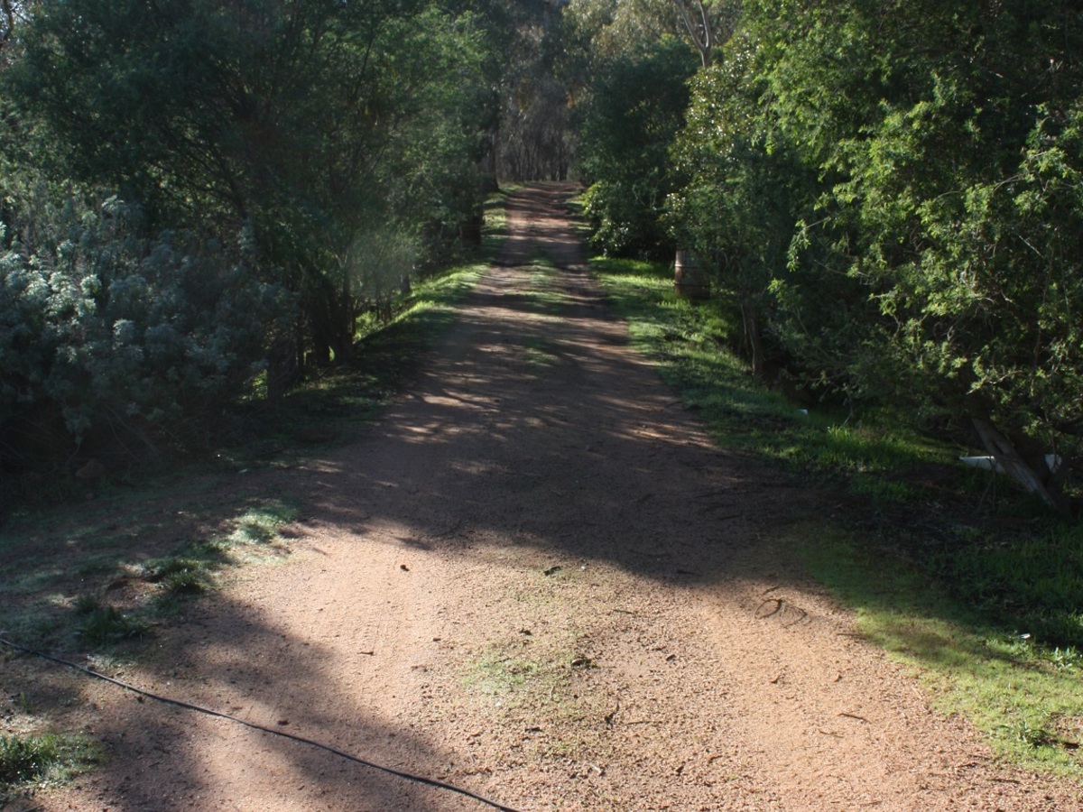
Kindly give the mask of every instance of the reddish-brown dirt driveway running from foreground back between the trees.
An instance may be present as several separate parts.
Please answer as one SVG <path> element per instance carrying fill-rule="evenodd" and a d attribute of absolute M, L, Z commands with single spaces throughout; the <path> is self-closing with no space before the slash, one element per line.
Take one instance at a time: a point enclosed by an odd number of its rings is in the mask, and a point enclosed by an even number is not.
<path fill-rule="evenodd" d="M 786 539 L 825 497 L 713 446 L 629 349 L 567 191 L 511 200 L 499 262 L 362 438 L 245 479 L 303 505 L 288 562 L 232 571 L 121 677 L 524 811 L 1080 808 L 931 710 L 803 574 Z M 108 761 L 21 807 L 484 808 L 65 690 Z"/>

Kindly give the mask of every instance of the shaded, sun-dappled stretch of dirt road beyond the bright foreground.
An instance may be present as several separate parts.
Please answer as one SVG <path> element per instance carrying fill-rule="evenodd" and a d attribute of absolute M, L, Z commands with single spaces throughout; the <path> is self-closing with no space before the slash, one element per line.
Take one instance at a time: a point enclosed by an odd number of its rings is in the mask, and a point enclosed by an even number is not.
<path fill-rule="evenodd" d="M 765 481 L 771 499 L 785 481 L 736 473 L 585 273 L 525 264 L 549 245 L 544 222 L 509 243 L 414 392 L 351 449 L 357 468 L 319 490 L 310 526 L 393 542 L 403 534 L 379 528 L 401 525 L 479 555 L 485 538 L 530 539 L 663 580 L 733 577 L 742 518 L 772 512 Z M 582 262 L 559 234 L 552 245 L 558 267 Z"/>

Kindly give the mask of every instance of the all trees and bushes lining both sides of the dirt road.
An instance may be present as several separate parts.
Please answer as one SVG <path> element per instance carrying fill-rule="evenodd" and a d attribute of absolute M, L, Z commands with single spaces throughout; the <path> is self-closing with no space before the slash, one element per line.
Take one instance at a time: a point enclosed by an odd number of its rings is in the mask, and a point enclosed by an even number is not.
<path fill-rule="evenodd" d="M 754 372 L 977 431 L 1056 503 L 1081 38 L 1064 0 L 0 3 L 0 461 L 349 361 L 496 173 L 693 251 Z"/>

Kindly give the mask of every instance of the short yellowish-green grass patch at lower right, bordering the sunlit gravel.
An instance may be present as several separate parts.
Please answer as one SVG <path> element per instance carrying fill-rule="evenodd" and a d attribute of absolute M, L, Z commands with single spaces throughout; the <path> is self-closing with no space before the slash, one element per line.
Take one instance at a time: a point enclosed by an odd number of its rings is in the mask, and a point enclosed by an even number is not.
<path fill-rule="evenodd" d="M 812 575 L 857 608 L 859 629 L 917 668 L 935 706 L 961 713 L 997 755 L 1083 777 L 1083 655 L 990 623 L 897 558 L 837 529 L 796 534 Z"/>

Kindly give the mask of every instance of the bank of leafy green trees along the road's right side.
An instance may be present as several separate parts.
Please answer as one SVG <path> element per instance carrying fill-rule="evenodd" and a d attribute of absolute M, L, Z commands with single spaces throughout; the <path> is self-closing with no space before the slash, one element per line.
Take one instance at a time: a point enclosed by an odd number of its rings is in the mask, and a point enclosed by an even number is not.
<path fill-rule="evenodd" d="M 757 374 L 979 436 L 1062 506 L 1083 434 L 1078 4 L 578 0 L 563 25 L 600 249 L 694 251 Z"/>

